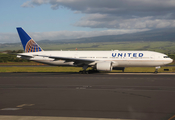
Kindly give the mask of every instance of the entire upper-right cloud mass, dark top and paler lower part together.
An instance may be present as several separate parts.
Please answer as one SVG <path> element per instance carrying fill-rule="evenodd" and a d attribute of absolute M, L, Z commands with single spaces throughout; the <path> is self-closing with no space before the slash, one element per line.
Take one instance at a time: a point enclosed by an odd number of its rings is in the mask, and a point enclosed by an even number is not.
<path fill-rule="evenodd" d="M 87 16 L 75 26 L 116 29 L 175 27 L 175 0 L 30 0 L 23 7 L 50 4 Z"/>

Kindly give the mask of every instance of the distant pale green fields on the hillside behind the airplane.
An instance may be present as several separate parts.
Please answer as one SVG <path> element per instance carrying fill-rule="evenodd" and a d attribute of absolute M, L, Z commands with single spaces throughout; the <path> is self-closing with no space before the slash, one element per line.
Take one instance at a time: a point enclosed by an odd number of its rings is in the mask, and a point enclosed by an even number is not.
<path fill-rule="evenodd" d="M 171 41 L 135 41 L 135 42 L 98 42 L 98 43 L 42 43 L 40 46 L 44 50 L 150 50 L 162 53 L 175 53 L 175 42 Z M 0 51 L 4 50 L 19 50 L 23 49 L 22 45 L 12 44 L 9 46 L 1 47 Z"/>

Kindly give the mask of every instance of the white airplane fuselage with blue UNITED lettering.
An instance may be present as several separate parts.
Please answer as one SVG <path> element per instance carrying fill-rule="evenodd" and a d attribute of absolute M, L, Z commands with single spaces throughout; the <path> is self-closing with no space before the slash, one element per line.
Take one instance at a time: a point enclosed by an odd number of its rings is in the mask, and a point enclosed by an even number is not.
<path fill-rule="evenodd" d="M 31 56 L 21 57 L 20 55 Z M 74 62 L 65 60 L 55 60 L 48 56 L 59 56 L 66 58 L 78 58 L 83 60 L 93 60 L 89 66 L 94 66 L 101 61 L 111 61 L 113 67 L 156 67 L 166 65 L 172 62 L 167 55 L 153 51 L 42 51 L 21 53 L 21 58 L 41 62 L 56 66 L 78 66 Z"/>

